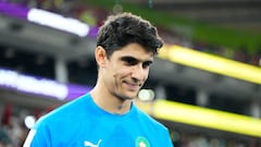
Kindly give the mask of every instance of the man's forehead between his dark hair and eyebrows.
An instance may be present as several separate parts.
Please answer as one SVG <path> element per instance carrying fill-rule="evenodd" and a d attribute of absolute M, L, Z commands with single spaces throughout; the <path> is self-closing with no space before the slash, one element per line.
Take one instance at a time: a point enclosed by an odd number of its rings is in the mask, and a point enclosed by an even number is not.
<path fill-rule="evenodd" d="M 112 53 L 112 58 L 121 58 L 121 57 L 133 57 L 137 60 L 147 61 L 153 60 L 153 52 L 147 51 L 139 44 L 128 44 L 120 50 L 116 50 Z"/>

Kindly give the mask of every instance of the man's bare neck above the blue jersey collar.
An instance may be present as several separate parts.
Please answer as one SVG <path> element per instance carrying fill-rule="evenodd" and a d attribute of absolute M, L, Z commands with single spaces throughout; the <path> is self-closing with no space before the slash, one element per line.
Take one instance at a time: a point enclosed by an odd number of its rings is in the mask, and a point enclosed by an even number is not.
<path fill-rule="evenodd" d="M 110 113 L 127 113 L 132 106 L 132 100 L 121 99 L 108 90 L 99 88 L 98 85 L 90 91 L 90 95 L 97 106 Z"/>

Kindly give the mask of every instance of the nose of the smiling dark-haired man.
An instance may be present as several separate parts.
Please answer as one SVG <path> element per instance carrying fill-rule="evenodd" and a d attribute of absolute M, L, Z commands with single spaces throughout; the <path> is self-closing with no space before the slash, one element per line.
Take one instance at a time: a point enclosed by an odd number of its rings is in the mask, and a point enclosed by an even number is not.
<path fill-rule="evenodd" d="M 146 81 L 148 77 L 148 70 L 145 69 L 142 64 L 137 64 L 133 69 L 132 77 L 136 81 Z"/>

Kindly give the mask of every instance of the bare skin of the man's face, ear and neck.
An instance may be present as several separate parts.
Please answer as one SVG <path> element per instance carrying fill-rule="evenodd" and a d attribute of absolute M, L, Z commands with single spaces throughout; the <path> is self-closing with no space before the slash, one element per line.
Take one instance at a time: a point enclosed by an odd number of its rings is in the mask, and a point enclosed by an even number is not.
<path fill-rule="evenodd" d="M 111 57 L 98 46 L 95 56 L 99 72 L 97 84 L 90 91 L 94 101 L 110 113 L 128 112 L 132 100 L 148 78 L 153 53 L 138 44 L 128 44 Z"/>

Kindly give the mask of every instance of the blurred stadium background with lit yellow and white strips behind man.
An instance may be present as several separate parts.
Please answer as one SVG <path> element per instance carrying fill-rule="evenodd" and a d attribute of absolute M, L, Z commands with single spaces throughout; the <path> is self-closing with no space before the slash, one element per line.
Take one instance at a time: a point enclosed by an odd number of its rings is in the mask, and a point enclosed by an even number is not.
<path fill-rule="evenodd" d="M 94 87 L 97 29 L 123 11 L 165 42 L 136 102 L 175 147 L 261 147 L 260 0 L 1 0 L 0 146 Z"/>

